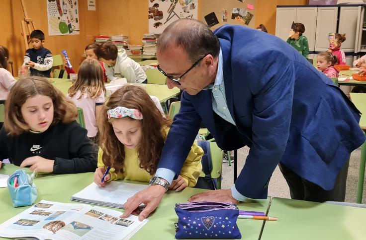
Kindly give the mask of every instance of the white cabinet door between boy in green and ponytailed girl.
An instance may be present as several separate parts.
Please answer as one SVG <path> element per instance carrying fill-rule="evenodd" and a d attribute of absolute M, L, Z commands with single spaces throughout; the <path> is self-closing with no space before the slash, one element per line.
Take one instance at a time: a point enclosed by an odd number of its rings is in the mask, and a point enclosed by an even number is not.
<path fill-rule="evenodd" d="M 328 34 L 337 31 L 338 7 L 318 7 L 315 51 L 324 52 L 329 49 Z"/>

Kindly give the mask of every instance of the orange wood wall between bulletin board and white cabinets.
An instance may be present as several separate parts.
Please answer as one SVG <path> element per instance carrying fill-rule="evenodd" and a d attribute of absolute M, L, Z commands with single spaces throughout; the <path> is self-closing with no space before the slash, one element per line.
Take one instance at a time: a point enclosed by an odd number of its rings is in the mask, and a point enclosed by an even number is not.
<path fill-rule="evenodd" d="M 309 0 L 256 0 L 256 26 L 264 24 L 269 33 L 275 34 L 277 5 L 307 5 Z"/>

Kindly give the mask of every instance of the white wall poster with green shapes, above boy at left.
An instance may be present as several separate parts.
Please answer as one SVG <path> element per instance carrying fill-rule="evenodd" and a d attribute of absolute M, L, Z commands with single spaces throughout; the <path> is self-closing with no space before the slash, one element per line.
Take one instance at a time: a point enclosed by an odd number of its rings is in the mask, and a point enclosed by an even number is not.
<path fill-rule="evenodd" d="M 78 0 L 46 0 L 48 35 L 79 35 Z"/>

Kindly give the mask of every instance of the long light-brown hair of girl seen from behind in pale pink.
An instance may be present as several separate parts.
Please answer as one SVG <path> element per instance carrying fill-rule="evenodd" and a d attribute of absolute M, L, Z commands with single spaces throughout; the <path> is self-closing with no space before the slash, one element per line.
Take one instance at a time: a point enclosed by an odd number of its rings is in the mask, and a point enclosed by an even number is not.
<path fill-rule="evenodd" d="M 80 90 L 81 94 L 78 99 L 81 99 L 84 94 L 95 99 L 104 92 L 104 76 L 103 69 L 99 62 L 95 59 L 87 59 L 82 62 L 78 72 L 78 79 L 69 88 L 68 94 L 74 96 Z"/>

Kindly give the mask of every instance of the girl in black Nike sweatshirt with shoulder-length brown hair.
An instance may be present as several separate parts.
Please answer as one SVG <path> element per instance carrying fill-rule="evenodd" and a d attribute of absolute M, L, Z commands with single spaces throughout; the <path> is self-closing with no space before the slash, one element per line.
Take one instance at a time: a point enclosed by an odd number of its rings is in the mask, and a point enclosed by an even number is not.
<path fill-rule="evenodd" d="M 94 172 L 96 156 L 77 114 L 74 103 L 46 79 L 19 79 L 5 103 L 0 159 L 37 173 Z"/>

